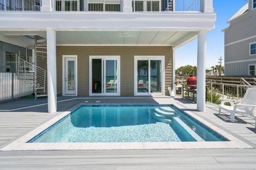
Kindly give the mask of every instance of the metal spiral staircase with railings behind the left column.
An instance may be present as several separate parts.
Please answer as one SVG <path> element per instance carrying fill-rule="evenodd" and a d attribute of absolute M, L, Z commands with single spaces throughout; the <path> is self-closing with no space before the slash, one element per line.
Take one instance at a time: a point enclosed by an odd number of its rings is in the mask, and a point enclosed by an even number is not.
<path fill-rule="evenodd" d="M 37 66 L 38 60 L 46 60 L 47 47 L 45 39 L 35 37 L 35 45 L 20 49 L 16 53 L 16 75 L 26 84 L 34 85 L 35 98 L 38 93 L 47 92 L 47 71 Z"/>

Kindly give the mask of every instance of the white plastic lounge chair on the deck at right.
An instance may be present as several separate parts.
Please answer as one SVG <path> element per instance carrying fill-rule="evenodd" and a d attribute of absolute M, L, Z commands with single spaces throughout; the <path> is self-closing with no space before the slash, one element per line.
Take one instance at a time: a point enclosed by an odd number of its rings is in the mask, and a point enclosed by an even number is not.
<path fill-rule="evenodd" d="M 219 114 L 221 109 L 228 111 L 230 113 L 231 122 L 234 122 L 235 113 L 241 113 L 243 116 L 251 115 L 256 120 L 256 115 L 254 114 L 256 107 L 256 88 L 248 88 L 244 94 L 244 98 L 238 100 L 238 102 L 239 101 L 241 104 L 234 104 L 236 100 L 224 99 L 219 105 Z M 231 106 L 224 105 L 226 102 L 230 103 Z"/>

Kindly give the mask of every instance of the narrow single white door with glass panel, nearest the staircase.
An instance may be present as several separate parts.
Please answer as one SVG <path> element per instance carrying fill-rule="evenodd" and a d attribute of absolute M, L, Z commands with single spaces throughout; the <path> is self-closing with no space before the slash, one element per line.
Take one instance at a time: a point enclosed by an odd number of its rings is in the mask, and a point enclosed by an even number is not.
<path fill-rule="evenodd" d="M 76 95 L 76 58 L 65 58 L 65 94 Z"/>

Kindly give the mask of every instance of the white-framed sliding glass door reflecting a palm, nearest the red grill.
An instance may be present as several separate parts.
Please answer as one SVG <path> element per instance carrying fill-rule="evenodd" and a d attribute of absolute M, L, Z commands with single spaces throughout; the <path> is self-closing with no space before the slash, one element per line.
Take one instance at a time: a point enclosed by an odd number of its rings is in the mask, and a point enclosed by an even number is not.
<path fill-rule="evenodd" d="M 163 61 L 163 56 L 135 56 L 135 95 L 163 94 Z"/>

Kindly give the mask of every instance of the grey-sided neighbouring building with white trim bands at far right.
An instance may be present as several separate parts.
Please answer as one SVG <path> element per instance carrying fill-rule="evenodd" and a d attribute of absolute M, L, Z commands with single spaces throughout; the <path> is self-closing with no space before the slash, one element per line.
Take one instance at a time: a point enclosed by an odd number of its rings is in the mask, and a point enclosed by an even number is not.
<path fill-rule="evenodd" d="M 225 76 L 256 75 L 256 0 L 248 0 L 225 33 Z"/>

